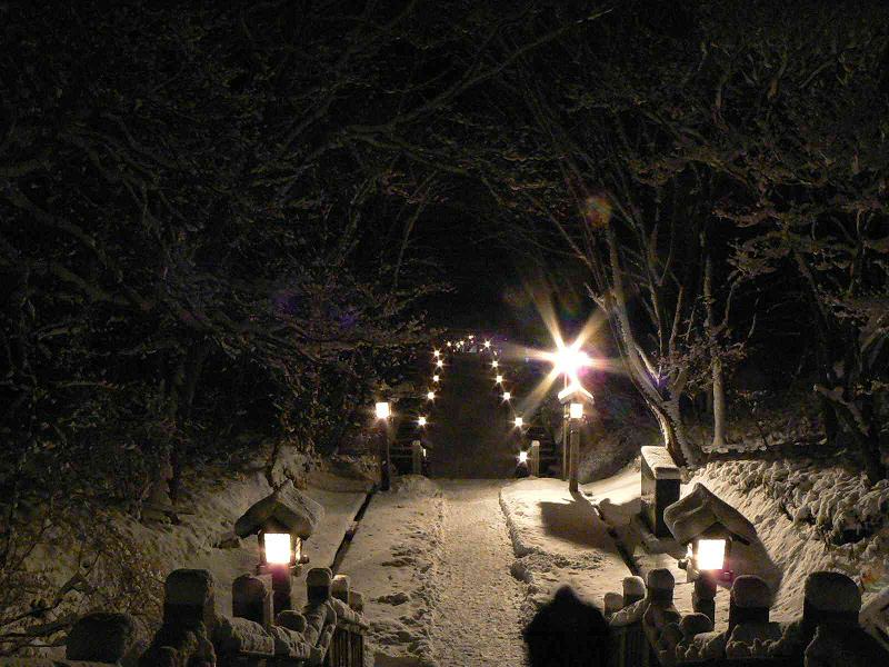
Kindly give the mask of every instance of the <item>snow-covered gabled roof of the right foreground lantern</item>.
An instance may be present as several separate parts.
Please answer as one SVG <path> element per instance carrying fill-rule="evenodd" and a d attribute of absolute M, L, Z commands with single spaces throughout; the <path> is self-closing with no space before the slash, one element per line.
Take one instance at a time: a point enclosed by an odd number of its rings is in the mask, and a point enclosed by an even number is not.
<path fill-rule="evenodd" d="M 695 485 L 688 496 L 663 510 L 663 521 L 676 540 L 683 545 L 720 529 L 743 544 L 757 539 L 753 525 L 700 482 Z"/>

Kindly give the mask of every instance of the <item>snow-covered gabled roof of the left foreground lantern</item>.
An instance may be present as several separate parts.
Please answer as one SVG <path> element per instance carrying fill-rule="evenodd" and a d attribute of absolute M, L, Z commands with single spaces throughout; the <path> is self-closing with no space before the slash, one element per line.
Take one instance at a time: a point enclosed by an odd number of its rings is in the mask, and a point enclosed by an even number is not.
<path fill-rule="evenodd" d="M 306 539 L 314 532 L 324 508 L 293 486 L 289 479 L 272 494 L 254 502 L 234 522 L 234 534 L 248 537 L 274 528 Z"/>

